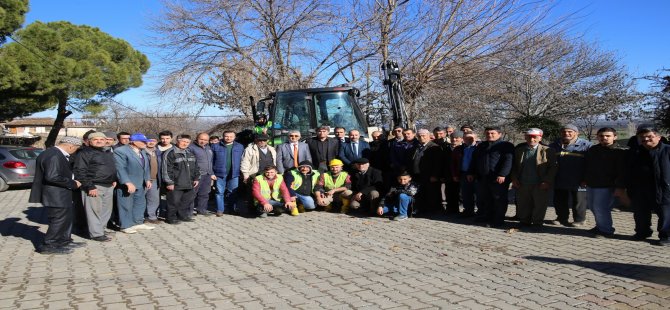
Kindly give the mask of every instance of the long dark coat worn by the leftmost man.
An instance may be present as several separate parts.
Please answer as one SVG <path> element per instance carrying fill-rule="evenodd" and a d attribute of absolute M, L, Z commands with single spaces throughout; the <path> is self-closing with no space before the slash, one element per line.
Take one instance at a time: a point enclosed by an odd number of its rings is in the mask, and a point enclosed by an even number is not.
<path fill-rule="evenodd" d="M 70 162 L 59 148 L 51 147 L 37 156 L 28 201 L 54 208 L 72 208 L 72 190 L 76 187 Z"/>

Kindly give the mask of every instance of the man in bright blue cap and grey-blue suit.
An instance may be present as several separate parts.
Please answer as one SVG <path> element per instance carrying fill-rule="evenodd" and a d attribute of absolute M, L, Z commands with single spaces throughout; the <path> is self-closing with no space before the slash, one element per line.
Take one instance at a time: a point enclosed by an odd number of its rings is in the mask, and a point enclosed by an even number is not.
<path fill-rule="evenodd" d="M 130 136 L 130 143 L 114 150 L 118 185 L 116 201 L 119 206 L 121 231 L 134 234 L 155 227 L 144 224 L 147 208 L 145 191 L 151 188 L 149 154 L 144 150 L 147 139 L 141 133 Z"/>

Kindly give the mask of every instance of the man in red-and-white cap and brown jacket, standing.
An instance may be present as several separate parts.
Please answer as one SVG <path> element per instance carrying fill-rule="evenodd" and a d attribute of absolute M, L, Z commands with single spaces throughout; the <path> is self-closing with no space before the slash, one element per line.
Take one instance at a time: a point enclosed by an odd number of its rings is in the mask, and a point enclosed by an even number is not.
<path fill-rule="evenodd" d="M 516 191 L 516 214 L 521 225 L 542 227 L 549 204 L 551 185 L 556 177 L 556 152 L 540 144 L 542 130 L 526 132 L 526 143 L 514 150 L 512 186 Z"/>

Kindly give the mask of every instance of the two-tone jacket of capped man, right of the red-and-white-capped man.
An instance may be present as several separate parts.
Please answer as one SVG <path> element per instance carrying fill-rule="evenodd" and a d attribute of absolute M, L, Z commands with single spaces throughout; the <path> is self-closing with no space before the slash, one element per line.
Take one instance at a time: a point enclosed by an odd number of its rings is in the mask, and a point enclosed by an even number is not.
<path fill-rule="evenodd" d="M 549 145 L 558 155 L 558 172 L 554 187 L 557 189 L 577 190 L 584 180 L 585 156 L 591 142 L 577 138 L 573 143 L 563 147 L 561 140 Z"/>

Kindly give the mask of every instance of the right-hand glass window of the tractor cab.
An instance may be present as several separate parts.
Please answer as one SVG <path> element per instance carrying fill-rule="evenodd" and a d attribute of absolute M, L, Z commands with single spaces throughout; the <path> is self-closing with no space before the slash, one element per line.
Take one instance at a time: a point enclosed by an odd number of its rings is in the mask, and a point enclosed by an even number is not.
<path fill-rule="evenodd" d="M 315 101 L 317 126 L 344 127 L 347 131 L 358 129 L 365 135 L 366 128 L 354 112 L 354 102 L 346 92 L 317 94 Z"/>

